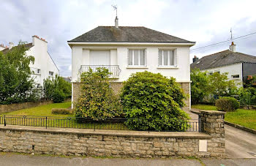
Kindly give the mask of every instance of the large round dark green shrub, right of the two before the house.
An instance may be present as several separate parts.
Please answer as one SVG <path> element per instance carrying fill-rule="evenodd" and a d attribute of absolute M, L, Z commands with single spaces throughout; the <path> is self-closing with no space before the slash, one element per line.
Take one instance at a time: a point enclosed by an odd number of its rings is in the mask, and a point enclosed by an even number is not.
<path fill-rule="evenodd" d="M 127 127 L 138 130 L 182 131 L 187 122 L 185 94 L 174 78 L 137 72 L 124 82 L 121 102 Z"/>

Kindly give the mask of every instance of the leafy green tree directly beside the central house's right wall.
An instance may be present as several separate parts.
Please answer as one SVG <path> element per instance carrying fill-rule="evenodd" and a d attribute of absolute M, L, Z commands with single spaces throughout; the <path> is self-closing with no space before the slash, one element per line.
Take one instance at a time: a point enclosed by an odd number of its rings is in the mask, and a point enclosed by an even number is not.
<path fill-rule="evenodd" d="M 206 72 L 200 72 L 200 69 L 192 69 L 190 72 L 191 83 L 191 102 L 192 104 L 197 104 L 202 102 L 203 98 L 206 97 L 210 91 L 209 78 L 206 75 Z"/>

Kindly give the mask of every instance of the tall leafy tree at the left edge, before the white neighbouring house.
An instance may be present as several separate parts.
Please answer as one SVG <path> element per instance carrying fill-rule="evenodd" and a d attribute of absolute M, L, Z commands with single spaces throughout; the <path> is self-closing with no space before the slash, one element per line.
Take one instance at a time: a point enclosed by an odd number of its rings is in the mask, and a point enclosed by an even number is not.
<path fill-rule="evenodd" d="M 7 53 L 0 51 L 0 103 L 11 104 L 26 102 L 26 92 L 34 87 L 31 79 L 30 63 L 34 63 L 33 56 L 26 55 L 26 42 L 19 42 L 18 47 Z M 31 96 L 33 97 L 33 95 Z"/>

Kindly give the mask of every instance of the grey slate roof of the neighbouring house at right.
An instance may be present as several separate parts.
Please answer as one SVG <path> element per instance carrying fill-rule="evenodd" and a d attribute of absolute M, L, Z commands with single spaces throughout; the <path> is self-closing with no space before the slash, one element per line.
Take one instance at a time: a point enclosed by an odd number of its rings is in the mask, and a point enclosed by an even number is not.
<path fill-rule="evenodd" d="M 250 56 L 245 53 L 238 53 L 230 50 L 223 50 L 219 53 L 203 56 L 203 58 L 198 59 L 194 63 L 190 64 L 190 67 L 192 69 L 198 68 L 203 70 L 242 62 L 256 63 L 256 56 Z"/>

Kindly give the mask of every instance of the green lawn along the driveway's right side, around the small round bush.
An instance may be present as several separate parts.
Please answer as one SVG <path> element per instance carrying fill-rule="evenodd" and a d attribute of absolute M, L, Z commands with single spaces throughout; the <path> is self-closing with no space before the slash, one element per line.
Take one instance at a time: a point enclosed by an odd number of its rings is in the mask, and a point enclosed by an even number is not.
<path fill-rule="evenodd" d="M 192 105 L 192 108 L 200 110 L 217 110 L 217 108 L 212 105 Z M 239 124 L 250 129 L 256 129 L 256 110 L 238 109 L 235 112 L 227 112 L 225 114 L 225 121 Z"/>

